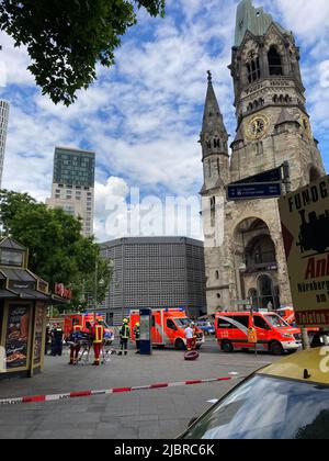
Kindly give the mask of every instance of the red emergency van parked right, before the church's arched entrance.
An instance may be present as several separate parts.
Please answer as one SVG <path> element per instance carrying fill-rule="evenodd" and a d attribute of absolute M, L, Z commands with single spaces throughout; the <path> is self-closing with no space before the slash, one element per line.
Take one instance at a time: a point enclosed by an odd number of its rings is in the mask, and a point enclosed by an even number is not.
<path fill-rule="evenodd" d="M 302 347 L 299 328 L 291 327 L 277 314 L 269 312 L 219 312 L 216 314 L 216 338 L 224 352 L 254 349 L 248 341 L 249 329 L 254 328 L 257 348 L 274 356 L 295 352 Z"/>

